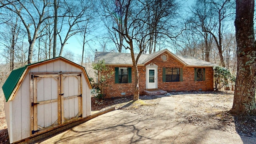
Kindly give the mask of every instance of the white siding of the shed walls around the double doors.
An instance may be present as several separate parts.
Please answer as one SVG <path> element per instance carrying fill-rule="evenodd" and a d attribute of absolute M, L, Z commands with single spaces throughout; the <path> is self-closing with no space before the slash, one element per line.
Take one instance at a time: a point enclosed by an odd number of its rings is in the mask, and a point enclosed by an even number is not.
<path fill-rule="evenodd" d="M 26 76 L 24 76 L 22 84 L 16 91 L 14 98 L 11 101 L 4 103 L 4 110 L 8 126 L 8 134 L 10 137 L 10 143 L 17 142 L 19 140 L 30 137 L 31 135 L 31 98 L 30 98 L 30 72 L 80 72 L 83 70 L 77 66 L 66 63 L 62 60 L 46 64 L 38 64 L 38 66 L 32 66 Z M 86 74 L 85 74 L 86 75 Z M 91 114 L 91 98 L 90 88 L 86 81 L 84 74 L 82 73 L 82 116 L 90 116 Z M 77 87 L 76 85 L 73 85 Z M 44 88 L 44 92 L 50 92 L 51 87 L 47 85 L 39 86 L 38 88 Z M 51 92 L 50 92 L 51 93 Z M 33 94 L 32 94 L 33 95 Z M 47 94 L 51 95 L 51 94 Z M 50 110 L 51 108 L 49 108 Z M 50 110 L 51 111 L 51 110 Z M 57 112 L 51 112 L 57 115 Z"/>

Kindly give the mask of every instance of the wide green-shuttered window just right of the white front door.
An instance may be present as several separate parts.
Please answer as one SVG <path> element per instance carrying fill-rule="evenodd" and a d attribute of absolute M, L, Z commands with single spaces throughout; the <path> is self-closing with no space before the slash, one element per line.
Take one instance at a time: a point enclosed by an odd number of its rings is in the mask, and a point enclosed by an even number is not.
<path fill-rule="evenodd" d="M 163 82 L 182 81 L 182 68 L 163 68 Z"/>

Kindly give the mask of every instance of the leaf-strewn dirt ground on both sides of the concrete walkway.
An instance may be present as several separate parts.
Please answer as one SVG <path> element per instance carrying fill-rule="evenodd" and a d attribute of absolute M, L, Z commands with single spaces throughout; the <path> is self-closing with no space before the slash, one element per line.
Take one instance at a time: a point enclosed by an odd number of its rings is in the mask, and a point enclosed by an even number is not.
<path fill-rule="evenodd" d="M 2 93 L 2 92 L 1 92 Z M 193 124 L 214 130 L 238 133 L 256 138 L 255 116 L 232 116 L 228 110 L 232 107 L 234 92 L 170 92 L 175 100 L 176 121 Z M 105 99 L 102 104 L 95 104 L 92 98 L 92 113 L 115 106 L 119 110 L 152 116 L 161 98 L 140 96 L 132 102 L 132 96 Z M 0 144 L 9 143 L 4 115 L 4 97 L 0 95 Z"/>

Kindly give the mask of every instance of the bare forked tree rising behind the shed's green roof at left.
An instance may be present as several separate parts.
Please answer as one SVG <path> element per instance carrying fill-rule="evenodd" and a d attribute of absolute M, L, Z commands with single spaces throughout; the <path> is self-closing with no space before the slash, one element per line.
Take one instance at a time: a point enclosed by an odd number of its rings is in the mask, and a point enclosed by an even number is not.
<path fill-rule="evenodd" d="M 3 0 L 0 4 L 9 2 L 10 4 L 3 6 L 11 12 L 18 15 L 22 21 L 28 36 L 29 50 L 28 50 L 28 64 L 32 62 L 33 48 L 38 38 L 38 35 L 46 28 L 46 25 L 42 25 L 45 20 L 52 18 L 46 12 L 47 7 L 50 5 L 48 0 L 42 0 L 40 2 L 34 0 L 19 0 L 11 2 L 9 0 Z"/>

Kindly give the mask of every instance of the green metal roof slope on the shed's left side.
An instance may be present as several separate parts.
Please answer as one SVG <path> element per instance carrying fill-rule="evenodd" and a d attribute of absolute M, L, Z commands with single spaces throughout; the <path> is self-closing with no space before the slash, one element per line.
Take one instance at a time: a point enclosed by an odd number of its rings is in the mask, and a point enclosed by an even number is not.
<path fill-rule="evenodd" d="M 26 70 L 27 66 L 23 66 L 21 68 L 18 68 L 16 70 L 13 70 L 10 75 L 8 76 L 7 80 L 4 82 L 4 85 L 2 86 L 2 89 L 4 91 L 4 96 L 6 102 L 9 100 L 12 91 L 16 87 L 18 81 L 20 80 L 20 77 L 22 76 L 23 72 Z"/>

